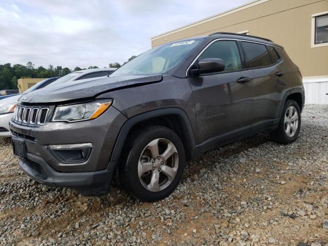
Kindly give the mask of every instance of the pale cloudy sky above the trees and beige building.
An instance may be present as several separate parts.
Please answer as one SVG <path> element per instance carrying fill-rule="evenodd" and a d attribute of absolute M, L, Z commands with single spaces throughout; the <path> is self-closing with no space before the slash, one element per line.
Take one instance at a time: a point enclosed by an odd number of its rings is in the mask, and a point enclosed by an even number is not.
<path fill-rule="evenodd" d="M 151 49 L 151 37 L 249 0 L 1 0 L 0 64 L 108 67 Z"/>

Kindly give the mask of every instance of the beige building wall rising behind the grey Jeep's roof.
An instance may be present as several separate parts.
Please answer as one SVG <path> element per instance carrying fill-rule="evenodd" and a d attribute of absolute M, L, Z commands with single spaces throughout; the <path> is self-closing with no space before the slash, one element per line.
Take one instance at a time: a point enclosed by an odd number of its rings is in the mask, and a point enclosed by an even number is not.
<path fill-rule="evenodd" d="M 328 44 L 312 48 L 312 15 L 328 0 L 258 0 L 152 38 L 152 47 L 214 32 L 241 32 L 282 45 L 303 76 L 328 76 Z"/>

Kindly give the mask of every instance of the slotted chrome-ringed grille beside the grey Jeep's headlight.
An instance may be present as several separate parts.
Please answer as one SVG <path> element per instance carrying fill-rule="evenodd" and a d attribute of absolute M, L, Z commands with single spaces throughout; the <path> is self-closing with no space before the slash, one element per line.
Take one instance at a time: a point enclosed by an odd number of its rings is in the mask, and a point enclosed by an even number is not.
<path fill-rule="evenodd" d="M 49 108 L 17 106 L 12 120 L 19 125 L 42 126 L 47 120 Z"/>

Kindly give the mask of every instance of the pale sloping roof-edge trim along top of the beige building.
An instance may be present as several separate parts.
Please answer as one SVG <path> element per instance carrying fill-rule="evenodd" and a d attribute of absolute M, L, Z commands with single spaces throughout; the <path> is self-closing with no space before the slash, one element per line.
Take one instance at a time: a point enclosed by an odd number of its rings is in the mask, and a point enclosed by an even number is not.
<path fill-rule="evenodd" d="M 185 26 L 182 26 L 182 27 L 179 27 L 179 28 L 176 28 L 176 29 L 173 29 L 171 31 L 168 31 L 168 32 L 165 32 L 165 33 L 161 33 L 159 35 L 156 35 L 154 37 L 152 37 L 151 39 L 157 39 L 157 38 L 160 38 L 160 37 L 163 37 L 163 36 L 166 36 L 168 34 L 173 34 L 175 32 L 179 32 L 179 31 L 182 31 L 182 30 L 185 30 L 185 29 L 188 29 L 190 27 L 193 27 L 193 26 L 197 26 L 197 25 L 200 25 L 200 24 L 203 24 L 203 23 L 206 23 L 206 22 L 210 22 L 211 20 L 213 19 L 218 19 L 218 18 L 221 18 L 223 16 L 226 16 L 226 15 L 229 15 L 229 14 L 232 14 L 232 13 L 235 13 L 235 12 L 238 12 L 238 11 L 241 11 L 241 10 L 244 10 L 244 9 L 248 9 L 248 8 L 251 8 L 253 6 L 256 6 L 256 5 L 259 5 L 259 4 L 262 4 L 262 3 L 265 3 L 265 2 L 268 2 L 270 0 L 254 0 L 252 2 L 249 2 L 247 4 L 244 4 L 244 5 L 241 5 L 241 6 L 238 6 L 236 8 L 233 8 L 233 9 L 230 9 L 230 10 L 227 10 L 227 11 L 224 11 L 222 13 L 219 13 L 219 14 L 215 14 L 215 15 L 212 15 L 210 17 L 207 17 L 207 18 L 204 18 L 204 19 L 200 19 L 200 20 L 197 20 L 196 22 L 193 22 L 193 23 L 190 23 L 188 25 L 185 25 Z"/>

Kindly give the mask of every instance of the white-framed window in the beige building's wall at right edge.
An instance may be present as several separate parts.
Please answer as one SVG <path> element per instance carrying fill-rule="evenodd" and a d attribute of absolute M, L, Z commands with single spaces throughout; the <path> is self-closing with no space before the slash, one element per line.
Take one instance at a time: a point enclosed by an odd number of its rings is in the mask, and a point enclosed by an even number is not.
<path fill-rule="evenodd" d="M 328 46 L 328 11 L 312 15 L 312 48 Z"/>

